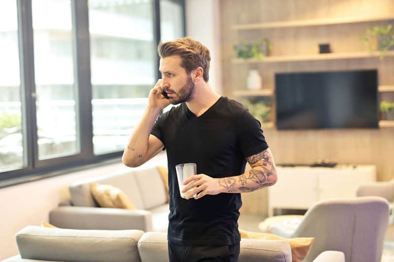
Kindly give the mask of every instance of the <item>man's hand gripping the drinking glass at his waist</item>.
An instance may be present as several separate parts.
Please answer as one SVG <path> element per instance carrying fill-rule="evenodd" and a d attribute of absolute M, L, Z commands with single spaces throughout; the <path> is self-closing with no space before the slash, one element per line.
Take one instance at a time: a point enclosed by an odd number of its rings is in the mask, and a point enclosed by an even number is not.
<path fill-rule="evenodd" d="M 223 187 L 220 186 L 218 178 L 213 178 L 204 174 L 192 175 L 187 178 L 183 184 L 187 186 L 182 189 L 182 193 L 190 190 L 186 194 L 186 199 L 190 199 L 200 191 L 201 192 L 195 199 L 202 198 L 205 195 L 217 195 L 223 192 Z"/>

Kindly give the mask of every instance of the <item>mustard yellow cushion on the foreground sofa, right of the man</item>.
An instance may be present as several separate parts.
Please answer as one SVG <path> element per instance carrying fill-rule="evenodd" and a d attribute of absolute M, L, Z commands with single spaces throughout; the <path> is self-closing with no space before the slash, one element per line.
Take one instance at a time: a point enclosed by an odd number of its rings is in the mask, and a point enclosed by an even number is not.
<path fill-rule="evenodd" d="M 296 238 L 284 238 L 274 234 L 268 233 L 258 233 L 249 232 L 239 229 L 241 238 L 251 238 L 251 239 L 267 239 L 267 240 L 286 240 L 289 242 L 292 249 L 292 259 L 293 262 L 301 262 L 308 255 L 311 249 L 314 237 L 296 237 Z"/>

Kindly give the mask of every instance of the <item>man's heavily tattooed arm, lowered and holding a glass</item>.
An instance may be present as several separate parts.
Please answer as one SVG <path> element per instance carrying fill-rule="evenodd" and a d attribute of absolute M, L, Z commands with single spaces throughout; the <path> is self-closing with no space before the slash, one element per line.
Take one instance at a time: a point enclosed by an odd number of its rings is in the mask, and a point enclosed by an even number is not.
<path fill-rule="evenodd" d="M 219 193 L 252 192 L 276 183 L 276 166 L 269 148 L 247 157 L 246 160 L 252 169 L 244 174 L 223 178 L 213 178 L 204 174 L 193 175 L 185 180 L 184 185 L 188 185 L 183 188 L 182 192 L 192 189 L 188 192 L 187 199 L 200 192 L 195 198 L 199 199 L 205 195 Z"/>

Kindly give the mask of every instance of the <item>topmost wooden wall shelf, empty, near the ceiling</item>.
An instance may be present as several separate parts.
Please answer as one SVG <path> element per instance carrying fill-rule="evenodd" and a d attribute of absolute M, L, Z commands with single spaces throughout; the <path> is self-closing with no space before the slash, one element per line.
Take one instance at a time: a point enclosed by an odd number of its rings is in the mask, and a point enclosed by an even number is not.
<path fill-rule="evenodd" d="M 260 24 L 244 24 L 233 25 L 233 30 L 252 30 L 252 29 L 272 29 L 272 28 L 295 28 L 295 27 L 313 27 L 324 25 L 341 25 L 341 24 L 355 24 L 366 22 L 377 22 L 394 20 L 394 16 L 375 17 L 375 18 L 327 18 L 327 19 L 313 19 L 313 20 L 295 20 L 295 21 L 281 21 L 281 22 L 266 22 Z"/>

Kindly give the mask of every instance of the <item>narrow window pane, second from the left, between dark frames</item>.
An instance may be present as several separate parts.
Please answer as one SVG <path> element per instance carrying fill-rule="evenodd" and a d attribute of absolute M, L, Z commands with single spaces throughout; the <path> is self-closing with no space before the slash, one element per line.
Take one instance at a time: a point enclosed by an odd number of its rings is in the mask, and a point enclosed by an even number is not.
<path fill-rule="evenodd" d="M 32 11 L 38 159 L 75 154 L 79 140 L 71 0 L 33 0 Z"/>

